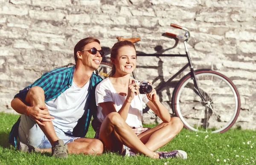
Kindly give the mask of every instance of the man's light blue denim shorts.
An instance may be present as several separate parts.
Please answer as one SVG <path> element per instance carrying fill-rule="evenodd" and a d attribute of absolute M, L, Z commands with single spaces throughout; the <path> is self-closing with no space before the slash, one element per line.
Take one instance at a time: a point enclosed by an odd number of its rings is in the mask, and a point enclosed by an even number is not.
<path fill-rule="evenodd" d="M 63 140 L 65 144 L 74 142 L 74 140 L 79 139 L 80 137 L 74 137 L 71 135 L 65 134 L 58 127 L 54 127 L 54 130 L 59 139 Z M 19 125 L 19 139 L 20 142 L 24 144 L 32 145 L 35 148 L 51 148 L 52 145 L 44 135 L 44 132 L 38 126 L 38 124 L 31 119 L 29 116 L 21 115 L 20 125 Z"/>

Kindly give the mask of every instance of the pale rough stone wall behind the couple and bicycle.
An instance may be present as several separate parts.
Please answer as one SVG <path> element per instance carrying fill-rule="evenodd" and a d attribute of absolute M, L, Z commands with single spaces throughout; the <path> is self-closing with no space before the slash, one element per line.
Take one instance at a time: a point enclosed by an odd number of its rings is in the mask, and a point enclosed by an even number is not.
<path fill-rule="evenodd" d="M 189 50 L 195 69 L 227 75 L 239 90 L 237 125 L 256 129 L 255 0 L 0 0 L 0 110 L 20 89 L 44 72 L 74 63 L 73 47 L 82 38 L 99 38 L 111 47 L 116 36 L 139 37 L 137 50 L 175 46 L 164 32 L 191 31 Z M 178 43 L 165 53 L 183 53 Z M 138 57 L 137 77 L 156 87 L 186 63 L 181 57 Z M 182 75 L 186 74 L 186 70 Z M 180 78 L 181 76 L 179 76 Z M 177 79 L 175 80 L 177 81 Z M 169 106 L 166 90 L 161 101 Z"/>

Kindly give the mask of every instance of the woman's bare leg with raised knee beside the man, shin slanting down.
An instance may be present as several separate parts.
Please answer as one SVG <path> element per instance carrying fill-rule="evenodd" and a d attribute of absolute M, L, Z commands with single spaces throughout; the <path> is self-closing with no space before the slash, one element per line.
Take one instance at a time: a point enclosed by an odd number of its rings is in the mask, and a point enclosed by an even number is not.
<path fill-rule="evenodd" d="M 106 151 L 121 153 L 124 144 L 135 152 L 143 153 L 151 158 L 159 158 L 158 154 L 148 149 L 138 139 L 131 127 L 116 112 L 109 113 L 102 122 L 99 139 L 103 142 Z"/>

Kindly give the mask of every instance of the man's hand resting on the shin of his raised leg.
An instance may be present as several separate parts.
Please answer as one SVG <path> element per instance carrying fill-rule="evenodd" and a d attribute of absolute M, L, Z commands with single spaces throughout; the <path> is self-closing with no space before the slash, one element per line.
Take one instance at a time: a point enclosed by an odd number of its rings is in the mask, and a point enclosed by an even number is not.
<path fill-rule="evenodd" d="M 50 116 L 47 108 L 48 107 L 45 105 L 35 105 L 30 107 L 28 115 L 34 119 L 38 125 L 44 126 L 42 122 L 52 122 L 52 119 L 55 119 L 53 116 Z"/>

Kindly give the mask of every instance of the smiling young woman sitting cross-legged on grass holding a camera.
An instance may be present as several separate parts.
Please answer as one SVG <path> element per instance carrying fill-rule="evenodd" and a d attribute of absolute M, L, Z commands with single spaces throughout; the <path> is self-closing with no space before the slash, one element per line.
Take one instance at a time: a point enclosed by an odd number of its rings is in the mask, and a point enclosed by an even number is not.
<path fill-rule="evenodd" d="M 186 159 L 186 152 L 181 150 L 154 152 L 170 142 L 183 128 L 183 123 L 177 117 L 171 118 L 154 89 L 151 93 L 140 94 L 139 85 L 130 78 L 136 68 L 136 58 L 135 46 L 130 41 L 115 43 L 111 49 L 112 74 L 97 85 L 95 92 L 98 122 L 93 121 L 93 127 L 96 138 L 103 142 L 105 151 L 122 155 L 143 153 L 154 159 Z M 162 119 L 161 124 L 151 129 L 142 126 L 142 101 Z"/>

